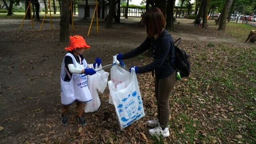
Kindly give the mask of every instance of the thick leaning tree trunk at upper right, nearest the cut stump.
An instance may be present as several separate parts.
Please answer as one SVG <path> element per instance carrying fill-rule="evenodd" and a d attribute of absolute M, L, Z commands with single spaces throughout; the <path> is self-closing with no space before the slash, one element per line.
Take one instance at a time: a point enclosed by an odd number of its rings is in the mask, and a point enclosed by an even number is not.
<path fill-rule="evenodd" d="M 228 11 L 229 11 L 229 8 L 232 4 L 233 0 L 227 0 L 226 1 L 226 4 L 224 5 L 224 8 L 222 10 L 222 17 L 220 19 L 220 25 L 219 25 L 219 28 L 218 30 L 225 30 L 225 26 L 226 26 L 226 19 L 227 19 L 227 16 L 228 16 Z"/>

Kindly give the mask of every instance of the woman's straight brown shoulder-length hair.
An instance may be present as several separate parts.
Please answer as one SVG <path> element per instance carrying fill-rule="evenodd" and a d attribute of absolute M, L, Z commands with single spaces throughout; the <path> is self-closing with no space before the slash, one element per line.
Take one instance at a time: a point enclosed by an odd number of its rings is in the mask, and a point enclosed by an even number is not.
<path fill-rule="evenodd" d="M 142 22 L 145 24 L 149 37 L 161 32 L 166 24 L 162 11 L 157 7 L 148 9 L 142 16 Z"/>

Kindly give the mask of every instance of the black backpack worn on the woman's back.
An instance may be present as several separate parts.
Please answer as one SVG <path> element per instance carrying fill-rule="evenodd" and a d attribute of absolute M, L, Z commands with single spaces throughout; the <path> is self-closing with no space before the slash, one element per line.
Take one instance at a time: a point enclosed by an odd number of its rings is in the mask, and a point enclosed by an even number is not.
<path fill-rule="evenodd" d="M 170 34 L 164 34 L 163 36 L 170 35 Z M 161 36 L 161 37 L 163 37 Z M 175 49 L 175 61 L 172 63 L 169 59 L 169 55 L 167 56 L 166 60 L 171 64 L 171 66 L 174 68 L 176 72 L 180 72 L 180 77 L 188 77 L 190 73 L 190 62 L 188 58 L 190 57 L 184 50 L 178 48 L 178 45 L 180 44 L 181 38 L 176 40 L 174 42 L 174 49 Z M 176 42 L 178 44 L 175 46 Z"/>

